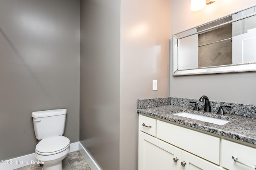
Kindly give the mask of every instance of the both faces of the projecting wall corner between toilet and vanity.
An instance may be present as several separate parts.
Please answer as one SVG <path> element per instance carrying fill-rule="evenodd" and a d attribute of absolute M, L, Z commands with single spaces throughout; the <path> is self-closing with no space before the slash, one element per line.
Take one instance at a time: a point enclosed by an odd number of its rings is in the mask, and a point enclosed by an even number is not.
<path fill-rule="evenodd" d="M 80 142 L 102 169 L 136 170 L 136 100 L 170 92 L 170 0 L 83 0 L 80 10 Z"/>

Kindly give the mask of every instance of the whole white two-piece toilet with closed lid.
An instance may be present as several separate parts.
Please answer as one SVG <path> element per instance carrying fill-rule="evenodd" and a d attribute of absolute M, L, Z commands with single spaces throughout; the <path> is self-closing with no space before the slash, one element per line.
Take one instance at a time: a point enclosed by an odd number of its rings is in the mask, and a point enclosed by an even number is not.
<path fill-rule="evenodd" d="M 70 140 L 62 136 L 67 109 L 32 112 L 36 139 L 35 157 L 44 164 L 43 170 L 62 170 L 62 159 L 70 150 Z"/>

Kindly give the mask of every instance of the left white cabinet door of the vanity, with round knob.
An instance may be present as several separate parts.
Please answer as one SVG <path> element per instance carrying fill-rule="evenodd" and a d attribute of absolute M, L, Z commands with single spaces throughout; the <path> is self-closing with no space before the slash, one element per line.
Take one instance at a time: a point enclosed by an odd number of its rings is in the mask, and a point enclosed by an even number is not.
<path fill-rule="evenodd" d="M 180 153 L 180 149 L 140 132 L 139 170 L 180 170 Z"/>

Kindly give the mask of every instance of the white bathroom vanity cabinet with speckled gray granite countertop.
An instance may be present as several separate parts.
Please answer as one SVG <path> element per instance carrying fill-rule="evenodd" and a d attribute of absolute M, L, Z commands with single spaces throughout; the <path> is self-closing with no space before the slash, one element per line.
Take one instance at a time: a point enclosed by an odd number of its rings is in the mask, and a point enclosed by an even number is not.
<path fill-rule="evenodd" d="M 147 102 L 148 100 L 144 103 L 146 108 L 138 106 L 137 110 L 139 170 L 256 169 L 254 115 L 216 115 L 214 111 L 206 113 L 189 107 L 174 106 L 170 101 L 161 101 L 158 103 L 160 105 L 156 104 L 157 100 Z M 255 107 L 250 106 L 249 109 Z M 178 112 L 202 114 L 229 122 L 216 125 L 174 115 Z"/>

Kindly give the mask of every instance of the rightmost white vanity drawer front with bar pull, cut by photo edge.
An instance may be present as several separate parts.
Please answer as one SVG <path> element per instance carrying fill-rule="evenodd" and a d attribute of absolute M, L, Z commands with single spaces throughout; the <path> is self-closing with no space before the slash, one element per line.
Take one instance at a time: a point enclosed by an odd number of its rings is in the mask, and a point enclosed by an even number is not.
<path fill-rule="evenodd" d="M 234 161 L 232 156 L 237 158 L 238 162 Z M 244 146 L 224 139 L 222 140 L 222 166 L 224 168 L 230 170 L 252 170 L 255 169 L 255 165 L 255 148 Z"/>

